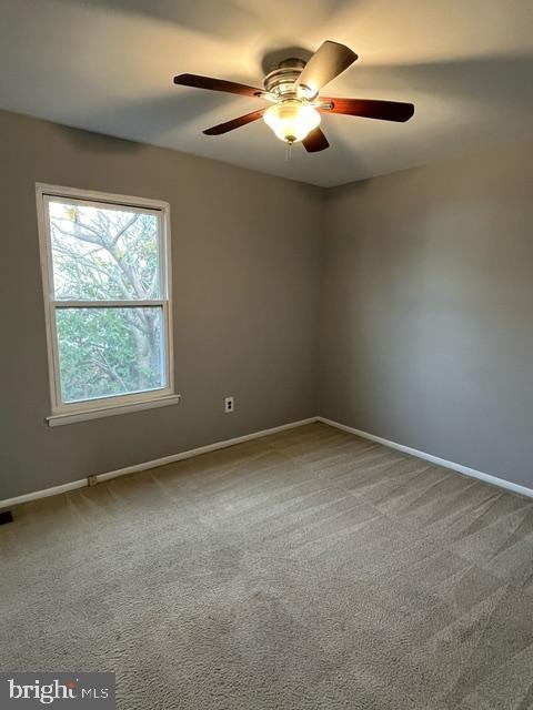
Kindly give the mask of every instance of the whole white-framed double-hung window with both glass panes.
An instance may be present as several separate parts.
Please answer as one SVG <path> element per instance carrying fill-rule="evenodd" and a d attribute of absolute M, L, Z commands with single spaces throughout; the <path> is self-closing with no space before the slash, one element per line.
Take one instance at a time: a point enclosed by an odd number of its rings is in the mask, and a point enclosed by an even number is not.
<path fill-rule="evenodd" d="M 173 404 L 169 205 L 37 186 L 52 416 Z"/>

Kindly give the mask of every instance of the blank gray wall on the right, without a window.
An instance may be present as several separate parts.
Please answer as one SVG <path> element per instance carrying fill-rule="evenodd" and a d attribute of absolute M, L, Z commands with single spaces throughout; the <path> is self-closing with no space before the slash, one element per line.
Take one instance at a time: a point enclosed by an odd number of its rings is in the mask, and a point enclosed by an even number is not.
<path fill-rule="evenodd" d="M 320 412 L 533 487 L 533 144 L 330 190 Z"/>

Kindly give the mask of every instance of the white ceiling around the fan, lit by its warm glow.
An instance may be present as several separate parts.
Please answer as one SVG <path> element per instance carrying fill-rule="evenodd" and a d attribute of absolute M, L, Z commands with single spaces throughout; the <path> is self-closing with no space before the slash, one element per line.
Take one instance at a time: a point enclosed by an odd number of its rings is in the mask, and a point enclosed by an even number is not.
<path fill-rule="evenodd" d="M 532 0 L 0 0 L 0 106 L 318 185 L 532 132 Z M 191 72 L 261 85 L 281 47 L 343 42 L 360 59 L 329 95 L 412 101 L 405 124 L 326 115 L 306 154 L 262 121 L 205 129 L 254 99 L 174 87 Z"/>

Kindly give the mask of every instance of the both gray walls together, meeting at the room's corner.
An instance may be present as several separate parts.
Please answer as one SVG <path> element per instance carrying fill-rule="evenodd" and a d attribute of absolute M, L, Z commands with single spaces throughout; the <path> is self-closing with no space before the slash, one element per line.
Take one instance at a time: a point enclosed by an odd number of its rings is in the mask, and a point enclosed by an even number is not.
<path fill-rule="evenodd" d="M 0 112 L 0 499 L 318 413 L 533 486 L 532 144 L 323 191 Z M 44 424 L 36 182 L 171 203 L 182 404 Z"/>

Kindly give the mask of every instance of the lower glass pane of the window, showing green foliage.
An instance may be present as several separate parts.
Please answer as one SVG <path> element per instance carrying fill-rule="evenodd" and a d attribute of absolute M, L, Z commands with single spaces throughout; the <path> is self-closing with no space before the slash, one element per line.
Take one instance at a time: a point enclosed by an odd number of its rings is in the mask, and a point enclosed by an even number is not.
<path fill-rule="evenodd" d="M 163 310 L 57 308 L 62 400 L 165 387 Z"/>

